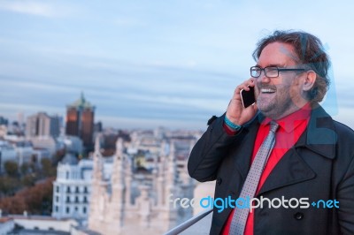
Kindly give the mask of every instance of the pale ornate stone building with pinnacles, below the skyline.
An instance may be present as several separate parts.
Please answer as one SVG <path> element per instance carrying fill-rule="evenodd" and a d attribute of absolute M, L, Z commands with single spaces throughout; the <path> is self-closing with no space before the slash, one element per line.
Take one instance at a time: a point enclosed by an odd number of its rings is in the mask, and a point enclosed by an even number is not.
<path fill-rule="evenodd" d="M 156 146 L 151 142 L 151 155 Z M 139 148 L 132 143 L 135 148 Z M 145 150 L 147 146 L 142 146 Z M 103 156 L 97 138 L 94 153 L 89 230 L 101 234 L 162 234 L 192 216 L 193 209 L 181 208 L 169 199 L 193 196 L 194 183 L 180 174 L 173 140 L 160 140 L 154 168 L 135 169 L 134 157 L 121 139 L 113 155 L 112 175 L 104 178 Z M 187 162 L 185 162 L 187 163 Z M 186 170 L 186 164 L 183 168 Z"/>

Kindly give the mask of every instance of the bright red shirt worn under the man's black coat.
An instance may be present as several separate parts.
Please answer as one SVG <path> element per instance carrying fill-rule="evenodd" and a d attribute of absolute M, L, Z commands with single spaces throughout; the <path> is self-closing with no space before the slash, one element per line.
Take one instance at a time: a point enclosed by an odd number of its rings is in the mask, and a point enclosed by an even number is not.
<path fill-rule="evenodd" d="M 306 129 L 310 119 L 310 114 L 311 108 L 310 104 L 308 103 L 301 110 L 297 110 L 289 116 L 283 117 L 276 121 L 279 124 L 279 128 L 275 134 L 275 145 L 271 155 L 269 155 L 265 170 L 260 176 L 256 194 L 259 192 L 259 189 L 265 183 L 266 178 L 268 177 L 270 172 L 273 171 L 274 166 L 281 160 L 281 157 L 285 155 L 285 153 L 294 146 L 296 141 L 300 138 L 301 134 L 304 133 L 304 130 Z M 270 121 L 270 118 L 266 118 L 259 126 L 255 146 L 253 148 L 253 153 L 251 157 L 251 163 L 258 152 L 258 148 L 260 148 L 262 142 L 266 139 L 266 136 L 269 133 Z M 229 130 L 227 130 L 227 133 L 229 133 Z M 223 235 L 228 235 L 234 213 L 235 209 L 233 209 L 233 211 L 227 218 L 227 223 L 225 224 L 224 229 L 222 231 Z M 245 235 L 253 235 L 253 224 L 254 213 L 250 213 L 247 218 L 247 223 L 244 230 Z"/>

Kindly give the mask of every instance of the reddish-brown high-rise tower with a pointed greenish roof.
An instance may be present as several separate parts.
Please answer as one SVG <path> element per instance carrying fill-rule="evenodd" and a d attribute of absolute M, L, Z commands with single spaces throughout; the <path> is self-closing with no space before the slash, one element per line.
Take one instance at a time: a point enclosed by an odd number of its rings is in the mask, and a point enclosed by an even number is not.
<path fill-rule="evenodd" d="M 86 149 L 93 147 L 95 106 L 85 100 L 83 94 L 66 107 L 66 135 L 81 138 Z"/>

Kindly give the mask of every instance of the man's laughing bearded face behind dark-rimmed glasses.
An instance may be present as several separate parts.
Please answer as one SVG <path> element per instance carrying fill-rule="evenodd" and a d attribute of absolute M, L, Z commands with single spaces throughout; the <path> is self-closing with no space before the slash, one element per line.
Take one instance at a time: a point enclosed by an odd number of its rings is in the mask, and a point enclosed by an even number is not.
<path fill-rule="evenodd" d="M 257 65 L 261 68 L 298 68 L 296 53 L 290 44 L 273 42 L 261 52 Z M 306 102 L 302 97 L 302 80 L 306 72 L 279 72 L 277 78 L 267 78 L 262 72 L 256 79 L 258 110 L 266 117 L 280 119 L 299 110 Z"/>

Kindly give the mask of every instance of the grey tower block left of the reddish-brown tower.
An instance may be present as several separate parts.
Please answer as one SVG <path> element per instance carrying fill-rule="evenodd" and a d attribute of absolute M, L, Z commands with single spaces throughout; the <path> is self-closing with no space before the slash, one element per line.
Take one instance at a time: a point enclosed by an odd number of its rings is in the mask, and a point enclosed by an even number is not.
<path fill-rule="evenodd" d="M 27 117 L 26 125 L 27 137 L 36 136 L 59 136 L 59 117 L 50 117 L 45 112 L 39 112 Z"/>

